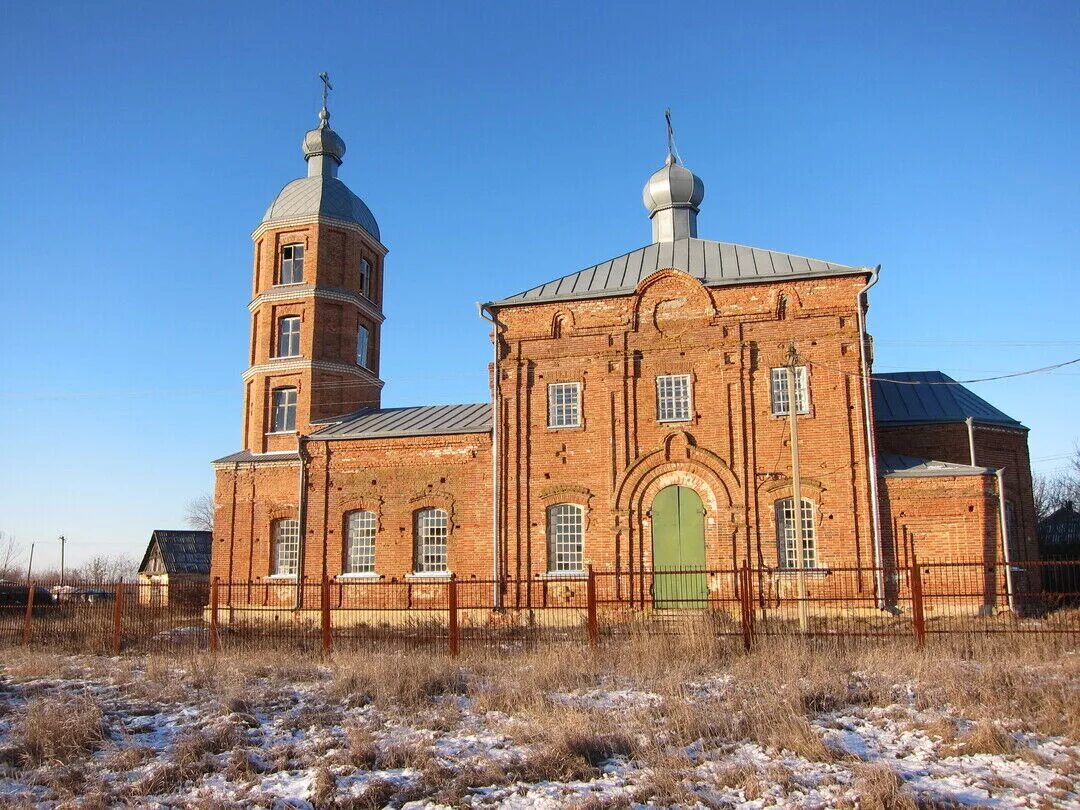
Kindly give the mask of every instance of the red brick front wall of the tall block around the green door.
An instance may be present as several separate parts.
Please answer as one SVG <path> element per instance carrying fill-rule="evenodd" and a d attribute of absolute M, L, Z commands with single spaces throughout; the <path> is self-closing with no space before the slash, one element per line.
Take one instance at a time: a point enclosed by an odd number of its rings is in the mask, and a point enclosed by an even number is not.
<path fill-rule="evenodd" d="M 771 414 L 770 368 L 783 365 L 791 340 L 811 364 L 811 413 L 799 426 L 819 562 L 868 564 L 863 284 L 852 276 L 706 289 L 661 271 L 635 295 L 500 310 L 504 570 L 546 570 L 544 509 L 561 500 L 589 508 L 586 562 L 647 567 L 651 499 L 673 483 L 702 496 L 708 565 L 775 565 L 772 504 L 789 496 L 791 461 L 787 419 Z M 692 419 L 659 423 L 656 376 L 683 373 L 692 378 Z M 549 429 L 546 384 L 571 380 L 582 383 L 584 423 Z"/>

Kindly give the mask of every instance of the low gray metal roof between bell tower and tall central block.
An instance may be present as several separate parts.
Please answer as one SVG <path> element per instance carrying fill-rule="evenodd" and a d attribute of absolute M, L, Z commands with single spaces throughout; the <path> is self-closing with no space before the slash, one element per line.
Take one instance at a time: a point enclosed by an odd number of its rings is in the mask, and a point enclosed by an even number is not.
<path fill-rule="evenodd" d="M 486 433 L 491 430 L 491 405 L 419 405 L 409 408 L 364 408 L 340 422 L 312 433 L 315 441 L 337 438 L 392 438 L 450 433 Z"/>

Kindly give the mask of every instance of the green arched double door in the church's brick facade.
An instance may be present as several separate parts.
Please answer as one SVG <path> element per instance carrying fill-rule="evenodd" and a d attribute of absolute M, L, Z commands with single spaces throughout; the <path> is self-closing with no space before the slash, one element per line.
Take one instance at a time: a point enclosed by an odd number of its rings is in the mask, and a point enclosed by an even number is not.
<path fill-rule="evenodd" d="M 688 487 L 666 487 L 652 501 L 652 569 L 656 607 L 706 606 L 705 510 Z"/>

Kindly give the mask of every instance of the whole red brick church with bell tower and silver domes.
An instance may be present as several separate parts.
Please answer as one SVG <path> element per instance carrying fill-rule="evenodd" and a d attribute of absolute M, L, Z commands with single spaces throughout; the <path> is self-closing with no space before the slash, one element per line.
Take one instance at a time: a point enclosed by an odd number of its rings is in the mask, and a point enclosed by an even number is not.
<path fill-rule="evenodd" d="M 873 377 L 878 270 L 700 239 L 704 185 L 671 149 L 645 184 L 648 244 L 482 306 L 489 402 L 382 407 L 399 282 L 345 151 L 324 105 L 307 176 L 252 237 L 243 448 L 214 462 L 212 576 L 453 573 L 505 582 L 509 605 L 512 582 L 590 565 L 782 572 L 796 519 L 823 573 L 913 550 L 1034 556 L 1027 429 L 939 372 Z"/>

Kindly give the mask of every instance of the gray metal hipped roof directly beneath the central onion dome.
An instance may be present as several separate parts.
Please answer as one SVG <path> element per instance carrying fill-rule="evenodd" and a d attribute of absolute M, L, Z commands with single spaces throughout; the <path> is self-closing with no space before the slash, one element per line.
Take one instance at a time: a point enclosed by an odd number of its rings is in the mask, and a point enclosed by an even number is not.
<path fill-rule="evenodd" d="M 492 303 L 512 306 L 626 295 L 643 279 L 669 267 L 688 272 L 706 286 L 870 272 L 865 267 L 836 265 L 730 242 L 678 239 L 639 247 Z"/>

